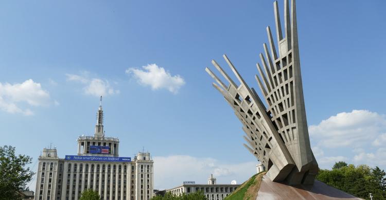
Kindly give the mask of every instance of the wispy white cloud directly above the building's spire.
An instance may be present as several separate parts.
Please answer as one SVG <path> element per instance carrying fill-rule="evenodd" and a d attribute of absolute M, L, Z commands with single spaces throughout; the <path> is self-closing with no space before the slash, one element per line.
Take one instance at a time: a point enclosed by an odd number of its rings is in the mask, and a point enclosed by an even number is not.
<path fill-rule="evenodd" d="M 119 94 L 119 90 L 115 90 L 110 86 L 109 81 L 99 78 L 89 78 L 88 72 L 82 72 L 82 75 L 66 74 L 67 81 L 77 82 L 84 85 L 83 91 L 85 94 L 93 96 L 106 96 L 111 94 Z"/>

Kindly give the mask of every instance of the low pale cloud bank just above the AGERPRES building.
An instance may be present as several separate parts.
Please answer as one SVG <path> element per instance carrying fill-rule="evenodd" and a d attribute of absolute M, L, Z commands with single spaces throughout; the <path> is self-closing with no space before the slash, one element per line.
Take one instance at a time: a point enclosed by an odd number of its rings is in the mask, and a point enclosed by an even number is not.
<path fill-rule="evenodd" d="M 221 163 L 214 158 L 192 157 L 188 155 L 155 156 L 154 188 L 169 189 L 181 185 L 184 181 L 207 183 L 213 174 L 218 184 L 230 184 L 247 181 L 256 173 L 257 162 Z"/>

